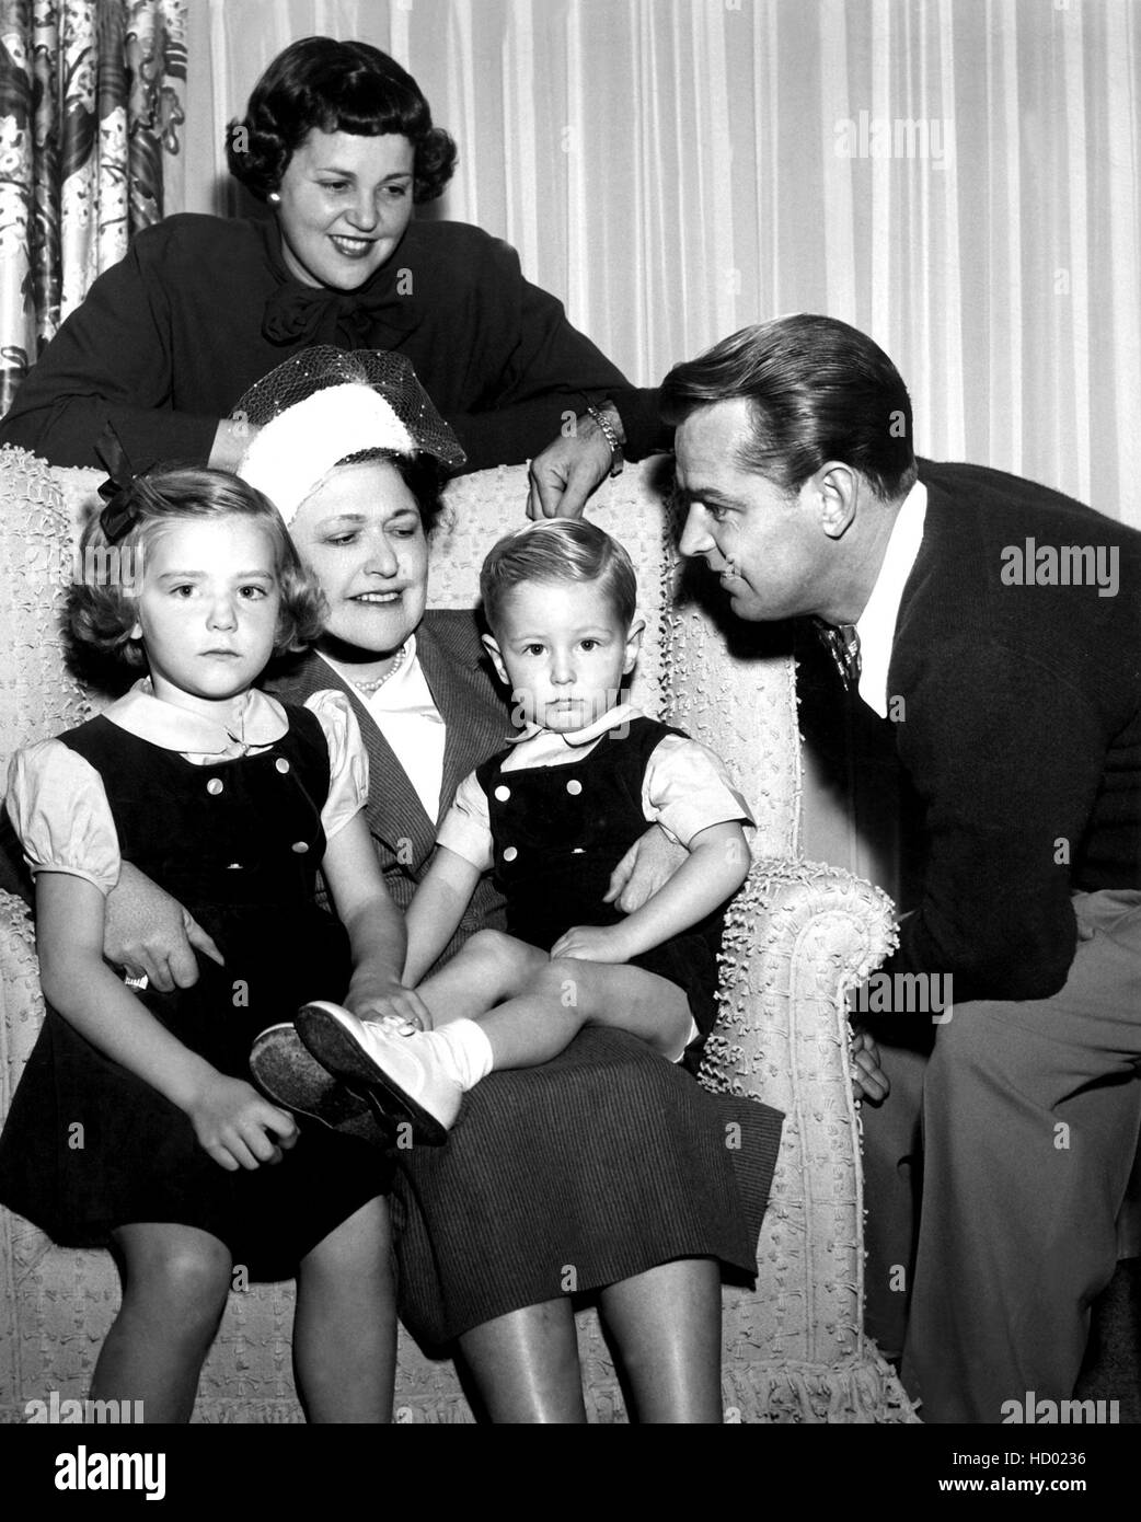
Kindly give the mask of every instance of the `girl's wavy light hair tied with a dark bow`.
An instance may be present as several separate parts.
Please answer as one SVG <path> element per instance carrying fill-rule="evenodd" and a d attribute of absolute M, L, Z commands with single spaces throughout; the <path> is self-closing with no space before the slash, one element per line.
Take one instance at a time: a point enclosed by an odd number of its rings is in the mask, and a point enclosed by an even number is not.
<path fill-rule="evenodd" d="M 170 524 L 202 517 L 249 517 L 259 522 L 274 551 L 274 575 L 281 589 L 274 654 L 304 650 L 326 624 L 327 604 L 316 577 L 307 571 L 268 496 L 228 470 L 154 470 L 114 499 L 129 513 L 131 527 L 108 540 L 96 514 L 79 540 L 76 580 L 68 598 L 68 626 L 76 644 L 99 658 L 146 665 L 141 641 L 131 630 L 146 574 L 146 546 Z"/>

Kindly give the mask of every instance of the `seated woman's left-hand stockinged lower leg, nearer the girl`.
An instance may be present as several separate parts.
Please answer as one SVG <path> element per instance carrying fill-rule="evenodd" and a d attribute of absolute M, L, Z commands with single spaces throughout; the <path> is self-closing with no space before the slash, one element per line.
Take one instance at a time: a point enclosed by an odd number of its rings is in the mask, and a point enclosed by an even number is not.
<path fill-rule="evenodd" d="M 464 1356 L 494 1423 L 586 1422 L 569 1300 L 549 1300 L 464 1332 Z"/>

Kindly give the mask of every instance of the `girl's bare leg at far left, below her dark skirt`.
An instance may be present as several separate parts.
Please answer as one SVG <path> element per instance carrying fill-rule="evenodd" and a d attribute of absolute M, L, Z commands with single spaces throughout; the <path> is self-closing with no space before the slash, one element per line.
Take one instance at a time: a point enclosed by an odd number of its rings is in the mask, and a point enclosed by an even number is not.
<path fill-rule="evenodd" d="M 111 1233 L 123 1301 L 91 1380 L 93 1400 L 141 1400 L 143 1422 L 189 1422 L 230 1292 L 230 1250 L 208 1231 L 132 1222 Z"/>

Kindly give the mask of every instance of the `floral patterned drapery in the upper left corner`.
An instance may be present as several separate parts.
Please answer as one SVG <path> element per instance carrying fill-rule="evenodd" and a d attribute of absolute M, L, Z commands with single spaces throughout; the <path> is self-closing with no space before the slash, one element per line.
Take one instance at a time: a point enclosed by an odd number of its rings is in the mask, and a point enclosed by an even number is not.
<path fill-rule="evenodd" d="M 181 178 L 186 0 L 0 0 L 0 411 Z"/>

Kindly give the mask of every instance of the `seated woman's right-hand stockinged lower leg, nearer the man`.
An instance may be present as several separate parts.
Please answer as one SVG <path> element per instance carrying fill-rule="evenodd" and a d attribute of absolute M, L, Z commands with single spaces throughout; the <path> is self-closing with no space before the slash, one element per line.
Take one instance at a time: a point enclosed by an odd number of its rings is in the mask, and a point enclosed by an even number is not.
<path fill-rule="evenodd" d="M 662 1263 L 601 1297 L 640 1423 L 721 1423 L 721 1271 L 712 1257 Z"/>

